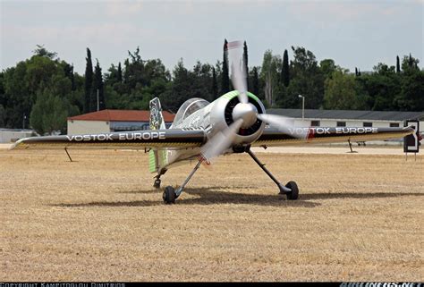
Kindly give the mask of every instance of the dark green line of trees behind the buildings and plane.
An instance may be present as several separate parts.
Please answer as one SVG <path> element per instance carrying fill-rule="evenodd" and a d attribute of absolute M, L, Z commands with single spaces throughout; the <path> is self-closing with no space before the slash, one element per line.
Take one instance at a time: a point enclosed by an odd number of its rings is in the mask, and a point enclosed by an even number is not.
<path fill-rule="evenodd" d="M 160 59 L 143 59 L 140 47 L 128 52 L 122 63 L 102 72 L 96 59 L 93 67 L 87 48 L 84 75 L 61 60 L 55 52 L 37 46 L 33 55 L 0 72 L 0 127 L 28 128 L 39 134 L 66 132 L 66 118 L 102 109 L 148 109 L 153 97 L 176 113 L 191 97 L 213 101 L 233 89 L 228 69 L 227 41 L 222 61 L 199 61 L 188 69 L 182 59 L 172 72 Z M 292 46 L 283 56 L 267 50 L 261 66 L 249 67 L 244 42 L 243 65 L 249 90 L 267 107 L 424 111 L 424 70 L 419 59 L 396 56 L 396 66 L 377 63 L 372 72 L 350 72 L 332 59 L 318 63 L 302 46 Z"/>

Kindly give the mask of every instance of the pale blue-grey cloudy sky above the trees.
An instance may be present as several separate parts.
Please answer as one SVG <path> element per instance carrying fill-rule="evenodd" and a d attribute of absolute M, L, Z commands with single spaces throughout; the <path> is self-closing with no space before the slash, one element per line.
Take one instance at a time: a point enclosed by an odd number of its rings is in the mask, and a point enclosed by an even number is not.
<path fill-rule="evenodd" d="M 225 38 L 246 40 L 250 67 L 268 49 L 281 56 L 287 49 L 293 59 L 292 46 L 351 71 L 395 65 L 396 55 L 410 53 L 424 67 L 424 0 L 0 0 L 0 13 L 0 70 L 30 58 L 36 45 L 80 74 L 87 47 L 104 72 L 137 46 L 170 71 L 181 58 L 191 69 L 222 61 Z"/>

